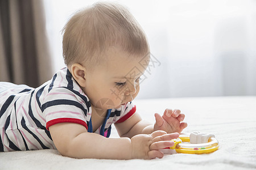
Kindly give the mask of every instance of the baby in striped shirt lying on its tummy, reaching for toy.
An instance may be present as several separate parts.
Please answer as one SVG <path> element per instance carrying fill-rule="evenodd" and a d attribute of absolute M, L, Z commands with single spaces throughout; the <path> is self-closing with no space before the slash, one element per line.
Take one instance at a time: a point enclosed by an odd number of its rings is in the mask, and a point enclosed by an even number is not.
<path fill-rule="evenodd" d="M 170 140 L 187 127 L 180 110 L 156 113 L 154 125 L 136 112 L 150 48 L 125 7 L 99 2 L 73 15 L 63 29 L 63 57 L 67 67 L 38 88 L 0 83 L 0 151 L 162 158 L 159 150 L 173 146 Z M 120 138 L 108 138 L 112 124 Z"/>

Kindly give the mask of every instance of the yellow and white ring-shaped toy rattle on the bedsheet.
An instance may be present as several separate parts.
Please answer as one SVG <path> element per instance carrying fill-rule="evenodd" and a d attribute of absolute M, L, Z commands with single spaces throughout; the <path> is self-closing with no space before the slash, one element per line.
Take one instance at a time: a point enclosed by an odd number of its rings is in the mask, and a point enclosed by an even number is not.
<path fill-rule="evenodd" d="M 218 149 L 218 140 L 213 134 L 200 133 L 194 131 L 190 135 L 181 134 L 179 138 L 172 139 L 174 146 L 164 148 L 164 154 L 208 154 Z"/>

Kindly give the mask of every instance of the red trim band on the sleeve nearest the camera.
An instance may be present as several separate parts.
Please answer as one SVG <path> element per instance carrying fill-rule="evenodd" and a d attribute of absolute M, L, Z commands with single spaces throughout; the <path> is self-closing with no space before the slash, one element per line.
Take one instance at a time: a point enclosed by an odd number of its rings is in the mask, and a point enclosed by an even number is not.
<path fill-rule="evenodd" d="M 51 121 L 48 121 L 46 123 L 46 129 L 49 130 L 49 126 L 59 124 L 59 123 L 75 123 L 75 124 L 80 124 L 82 126 L 85 126 L 86 130 L 88 130 L 88 126 L 85 121 L 82 121 L 77 118 L 56 118 Z"/>

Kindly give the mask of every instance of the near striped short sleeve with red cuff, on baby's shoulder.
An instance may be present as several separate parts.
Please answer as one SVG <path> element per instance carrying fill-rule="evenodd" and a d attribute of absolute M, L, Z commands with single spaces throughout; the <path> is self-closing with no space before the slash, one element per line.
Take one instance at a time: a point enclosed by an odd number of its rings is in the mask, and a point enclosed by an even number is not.
<path fill-rule="evenodd" d="M 81 124 L 88 129 L 86 101 L 67 88 L 53 88 L 44 98 L 41 109 L 46 117 L 47 130 L 49 126 L 62 122 Z"/>

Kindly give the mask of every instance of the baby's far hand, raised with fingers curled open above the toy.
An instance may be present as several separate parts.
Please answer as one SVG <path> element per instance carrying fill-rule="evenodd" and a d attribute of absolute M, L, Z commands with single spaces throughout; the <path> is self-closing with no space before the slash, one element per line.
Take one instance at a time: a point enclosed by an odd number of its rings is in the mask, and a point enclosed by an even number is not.
<path fill-rule="evenodd" d="M 185 114 L 181 114 L 180 110 L 166 109 L 163 116 L 155 113 L 154 131 L 163 130 L 167 133 L 181 133 L 188 126 L 186 122 L 181 122 L 185 118 Z"/>

